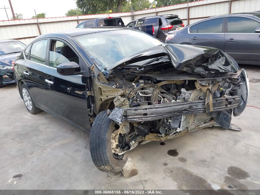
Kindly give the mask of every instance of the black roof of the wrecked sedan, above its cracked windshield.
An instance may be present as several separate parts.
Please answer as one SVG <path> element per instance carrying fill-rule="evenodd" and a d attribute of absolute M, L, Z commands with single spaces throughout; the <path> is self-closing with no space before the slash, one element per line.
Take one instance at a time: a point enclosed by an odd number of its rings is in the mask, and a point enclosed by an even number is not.
<path fill-rule="evenodd" d="M 79 35 L 86 35 L 86 34 L 91 34 L 91 33 L 98 33 L 98 32 L 104 32 L 104 31 L 112 31 L 112 30 L 134 30 L 130 28 L 125 28 L 125 27 L 116 27 L 116 26 L 94 26 L 94 27 L 85 27 L 85 28 L 74 28 L 74 29 L 69 29 L 69 30 L 61 30 L 53 33 L 48 33 L 45 35 L 40 35 L 37 37 L 43 38 L 43 37 L 50 37 L 50 36 L 59 36 L 61 34 L 66 34 L 70 37 L 75 37 Z"/>

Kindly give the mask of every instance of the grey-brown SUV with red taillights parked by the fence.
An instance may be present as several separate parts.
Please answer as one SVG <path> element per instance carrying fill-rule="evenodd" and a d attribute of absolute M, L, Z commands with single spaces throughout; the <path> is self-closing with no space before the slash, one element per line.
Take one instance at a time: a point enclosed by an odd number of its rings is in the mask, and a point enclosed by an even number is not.
<path fill-rule="evenodd" d="M 162 41 L 165 41 L 168 31 L 184 27 L 182 20 L 178 18 L 178 15 L 174 14 L 144 17 L 131 21 L 126 27 L 138 27 L 149 24 L 154 27 L 154 36 Z"/>

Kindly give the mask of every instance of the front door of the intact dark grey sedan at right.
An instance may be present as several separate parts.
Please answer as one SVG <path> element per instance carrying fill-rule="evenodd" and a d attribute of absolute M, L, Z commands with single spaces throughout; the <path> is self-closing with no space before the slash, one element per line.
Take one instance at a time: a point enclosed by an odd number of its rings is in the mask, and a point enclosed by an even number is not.
<path fill-rule="evenodd" d="M 238 63 L 260 62 L 260 34 L 255 33 L 260 22 L 246 17 L 226 17 L 224 51 Z M 244 61 L 244 62 L 243 62 Z"/>

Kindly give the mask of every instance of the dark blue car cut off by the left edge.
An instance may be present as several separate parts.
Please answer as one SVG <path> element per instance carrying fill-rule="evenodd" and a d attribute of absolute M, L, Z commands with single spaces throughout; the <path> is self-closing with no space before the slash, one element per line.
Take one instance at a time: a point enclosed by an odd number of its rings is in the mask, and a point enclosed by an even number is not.
<path fill-rule="evenodd" d="M 12 62 L 24 47 L 25 44 L 17 40 L 0 40 L 0 87 L 15 82 Z"/>

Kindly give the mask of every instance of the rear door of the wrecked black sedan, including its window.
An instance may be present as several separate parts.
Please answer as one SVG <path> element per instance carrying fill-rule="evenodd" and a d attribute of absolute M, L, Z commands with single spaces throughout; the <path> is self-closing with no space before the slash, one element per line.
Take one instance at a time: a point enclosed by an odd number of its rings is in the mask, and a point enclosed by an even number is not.
<path fill-rule="evenodd" d="M 34 104 L 43 109 L 45 107 L 45 69 L 46 48 L 48 39 L 40 39 L 32 43 L 29 54 L 25 52 L 26 58 L 22 64 L 22 79 L 29 89 Z M 27 50 L 27 48 L 26 48 Z M 28 57 L 27 57 L 28 56 Z"/>

